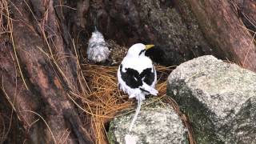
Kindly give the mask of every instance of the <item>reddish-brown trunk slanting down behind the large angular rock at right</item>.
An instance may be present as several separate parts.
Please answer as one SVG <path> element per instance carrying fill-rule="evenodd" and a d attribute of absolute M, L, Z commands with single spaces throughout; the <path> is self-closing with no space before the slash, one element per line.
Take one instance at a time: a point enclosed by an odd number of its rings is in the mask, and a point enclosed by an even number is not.
<path fill-rule="evenodd" d="M 237 62 L 250 70 L 256 71 L 256 46 L 254 36 L 238 15 L 235 2 L 228 0 L 202 1 L 186 0 L 198 19 L 203 33 L 211 46 L 218 46 L 230 61 Z M 250 21 L 255 22 L 255 1 L 244 1 Z M 239 4 L 238 6 L 242 6 Z M 251 9 L 250 9 L 251 8 Z M 248 13 L 250 10 L 251 13 Z"/>

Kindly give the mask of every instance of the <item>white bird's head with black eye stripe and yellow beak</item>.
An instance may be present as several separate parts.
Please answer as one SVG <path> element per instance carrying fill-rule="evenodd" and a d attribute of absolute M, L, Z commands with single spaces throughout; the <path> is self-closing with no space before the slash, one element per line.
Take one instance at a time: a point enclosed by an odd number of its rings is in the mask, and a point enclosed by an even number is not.
<path fill-rule="evenodd" d="M 144 45 L 142 43 L 136 43 L 133 46 L 130 46 L 127 56 L 129 57 L 139 57 L 145 56 L 146 50 L 149 50 L 154 45 Z"/>

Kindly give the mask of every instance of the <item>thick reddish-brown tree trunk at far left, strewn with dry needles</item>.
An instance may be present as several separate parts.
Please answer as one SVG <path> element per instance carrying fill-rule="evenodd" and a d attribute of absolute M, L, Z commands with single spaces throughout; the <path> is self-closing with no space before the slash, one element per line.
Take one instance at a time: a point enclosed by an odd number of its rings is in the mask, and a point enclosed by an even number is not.
<path fill-rule="evenodd" d="M 57 4 L 31 2 L 9 3 L 6 22 L 12 32 L 0 49 L 3 94 L 23 123 L 27 142 L 90 143 L 67 96 L 77 87 L 76 62 L 55 14 Z"/>

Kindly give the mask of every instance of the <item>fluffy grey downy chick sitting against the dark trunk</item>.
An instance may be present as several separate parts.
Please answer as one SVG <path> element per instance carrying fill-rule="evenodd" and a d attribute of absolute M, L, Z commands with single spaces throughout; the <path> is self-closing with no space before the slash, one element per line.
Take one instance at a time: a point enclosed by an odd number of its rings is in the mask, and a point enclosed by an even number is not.
<path fill-rule="evenodd" d="M 89 39 L 87 58 L 93 62 L 105 62 L 109 55 L 110 50 L 107 47 L 103 35 L 95 27 Z"/>

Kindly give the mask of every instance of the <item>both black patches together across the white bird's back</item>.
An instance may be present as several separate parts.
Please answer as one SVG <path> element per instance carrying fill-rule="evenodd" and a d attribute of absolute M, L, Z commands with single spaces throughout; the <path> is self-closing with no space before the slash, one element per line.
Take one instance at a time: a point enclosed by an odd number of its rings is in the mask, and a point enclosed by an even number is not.
<path fill-rule="evenodd" d="M 138 73 L 137 70 L 126 68 L 126 72 L 122 71 L 122 64 L 120 65 L 120 73 L 121 78 L 124 82 L 126 82 L 127 86 L 130 88 L 138 88 L 139 86 L 143 85 L 143 82 L 146 84 L 151 85 L 154 82 L 154 69 L 153 72 L 151 71 L 152 68 L 147 68 L 142 71 L 141 74 Z"/>

